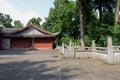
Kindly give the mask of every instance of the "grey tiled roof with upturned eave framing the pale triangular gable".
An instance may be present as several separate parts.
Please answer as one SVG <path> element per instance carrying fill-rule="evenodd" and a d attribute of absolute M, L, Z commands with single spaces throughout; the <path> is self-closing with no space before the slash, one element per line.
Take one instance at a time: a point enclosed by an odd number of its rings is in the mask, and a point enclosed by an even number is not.
<path fill-rule="evenodd" d="M 58 35 L 58 33 L 51 33 L 51 32 L 48 32 L 46 30 L 43 30 L 33 24 L 29 24 L 23 28 L 4 28 L 2 30 L 2 36 L 6 36 L 6 37 L 33 37 L 33 34 L 18 34 L 18 33 L 21 33 L 22 31 L 28 29 L 28 28 L 34 28 L 36 30 L 38 30 L 39 32 L 43 33 L 44 35 L 41 35 L 41 34 L 35 34 L 34 37 L 55 37 Z M 4 33 L 7 33 L 7 34 L 4 34 Z"/>

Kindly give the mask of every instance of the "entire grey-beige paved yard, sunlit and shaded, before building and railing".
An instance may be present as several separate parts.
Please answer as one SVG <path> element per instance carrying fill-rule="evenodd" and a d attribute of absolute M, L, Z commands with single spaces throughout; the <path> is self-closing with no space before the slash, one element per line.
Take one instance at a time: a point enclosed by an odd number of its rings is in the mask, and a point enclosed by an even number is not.
<path fill-rule="evenodd" d="M 63 59 L 53 50 L 0 50 L 0 80 L 120 80 L 120 65 Z"/>

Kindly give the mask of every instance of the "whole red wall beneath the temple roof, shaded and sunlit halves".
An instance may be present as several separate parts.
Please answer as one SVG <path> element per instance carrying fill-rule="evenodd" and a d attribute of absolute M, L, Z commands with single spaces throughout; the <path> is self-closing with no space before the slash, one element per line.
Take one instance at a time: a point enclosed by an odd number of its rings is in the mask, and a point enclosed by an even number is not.
<path fill-rule="evenodd" d="M 36 49 L 53 49 L 51 38 L 36 38 L 34 39 L 34 48 Z M 32 46 L 32 38 L 15 38 L 11 39 L 11 48 L 30 48 Z"/>

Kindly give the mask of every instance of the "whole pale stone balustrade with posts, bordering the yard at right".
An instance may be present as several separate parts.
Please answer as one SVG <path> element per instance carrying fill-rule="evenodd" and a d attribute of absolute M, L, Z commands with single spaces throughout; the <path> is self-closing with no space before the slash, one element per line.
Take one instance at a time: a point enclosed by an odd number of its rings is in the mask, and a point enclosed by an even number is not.
<path fill-rule="evenodd" d="M 91 47 L 81 47 L 69 45 L 65 47 L 62 44 L 62 53 L 65 57 L 76 58 L 95 58 L 109 64 L 120 64 L 120 46 L 112 45 L 112 37 L 108 37 L 107 47 L 96 47 L 95 41 L 92 41 Z"/>

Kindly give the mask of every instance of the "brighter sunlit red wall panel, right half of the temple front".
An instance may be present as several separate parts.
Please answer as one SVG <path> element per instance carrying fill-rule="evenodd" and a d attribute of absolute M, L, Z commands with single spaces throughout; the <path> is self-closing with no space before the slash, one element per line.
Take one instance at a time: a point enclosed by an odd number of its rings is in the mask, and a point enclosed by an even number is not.
<path fill-rule="evenodd" d="M 34 41 L 34 47 L 37 49 L 53 49 L 53 43 L 52 39 L 46 38 L 46 39 L 35 39 Z"/>

